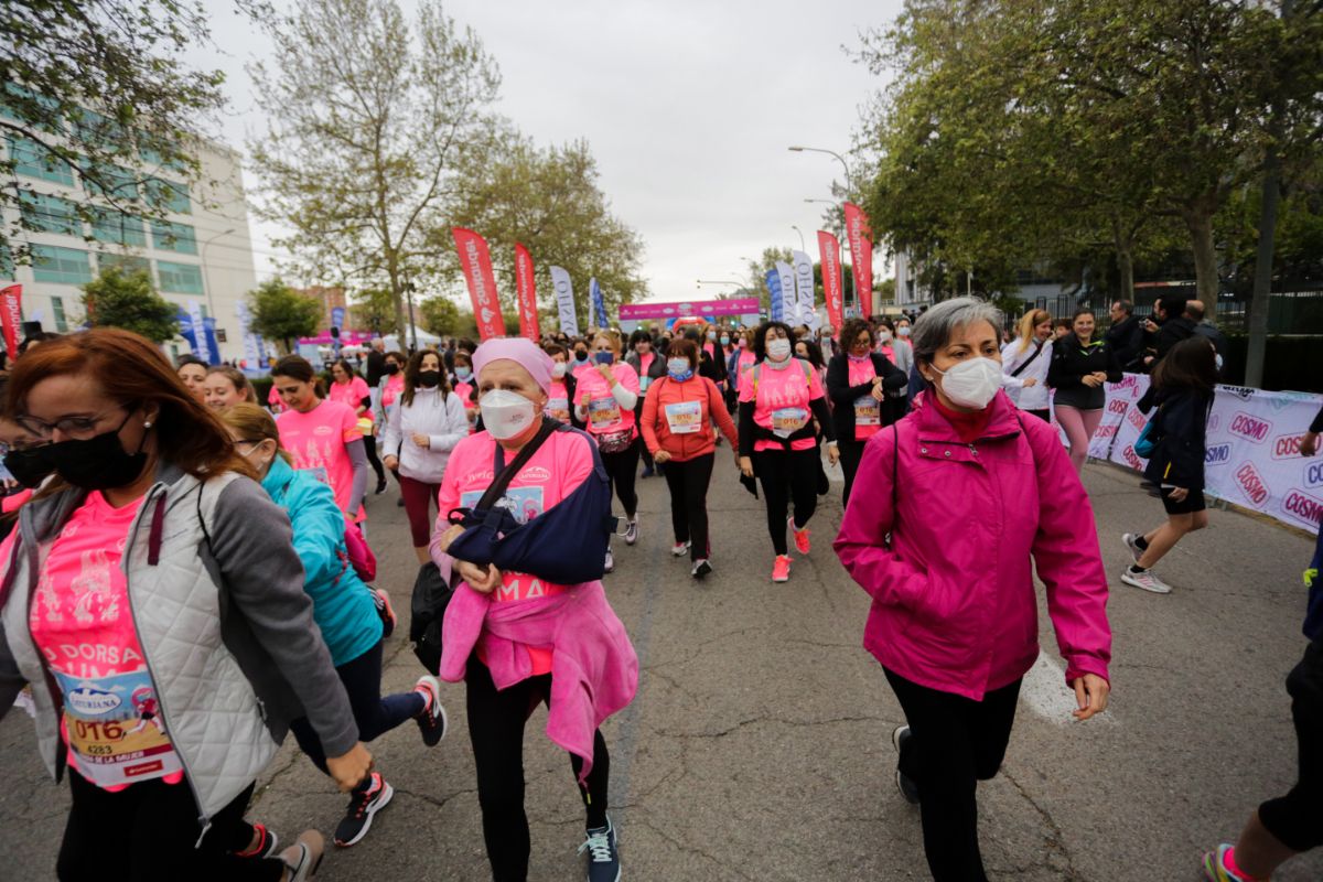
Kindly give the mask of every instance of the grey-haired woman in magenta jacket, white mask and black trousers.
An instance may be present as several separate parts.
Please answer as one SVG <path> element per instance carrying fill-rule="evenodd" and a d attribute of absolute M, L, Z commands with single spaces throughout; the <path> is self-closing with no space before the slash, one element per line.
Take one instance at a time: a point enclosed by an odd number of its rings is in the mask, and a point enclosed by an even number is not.
<path fill-rule="evenodd" d="M 1000 312 L 972 298 L 919 319 L 912 339 L 927 391 L 869 439 L 835 543 L 873 598 L 864 647 L 909 722 L 893 734 L 896 780 L 919 804 L 937 882 L 987 879 L 975 788 L 1002 764 L 1039 656 L 1031 558 L 1074 717 L 1105 710 L 1110 689 L 1093 509 L 1056 431 L 1000 391 Z M 913 488 L 923 492 L 900 492 Z"/>

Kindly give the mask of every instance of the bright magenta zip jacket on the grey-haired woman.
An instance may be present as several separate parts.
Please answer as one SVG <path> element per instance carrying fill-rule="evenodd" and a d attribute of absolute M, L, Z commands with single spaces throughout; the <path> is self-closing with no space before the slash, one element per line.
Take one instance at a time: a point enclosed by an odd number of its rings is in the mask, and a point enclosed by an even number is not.
<path fill-rule="evenodd" d="M 864 648 L 906 680 L 982 701 L 1039 657 L 1032 557 L 1066 681 L 1110 681 L 1107 577 L 1089 496 L 1056 428 L 1019 414 L 1003 391 L 988 407 L 983 435 L 963 444 L 921 394 L 896 423 L 898 463 L 890 427 L 864 447 L 835 542 L 873 598 Z"/>

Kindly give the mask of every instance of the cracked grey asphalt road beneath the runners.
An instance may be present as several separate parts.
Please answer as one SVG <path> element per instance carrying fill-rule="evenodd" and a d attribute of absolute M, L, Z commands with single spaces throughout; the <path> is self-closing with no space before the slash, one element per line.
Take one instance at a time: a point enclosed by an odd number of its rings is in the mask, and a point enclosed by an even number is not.
<path fill-rule="evenodd" d="M 1156 525 L 1160 504 L 1114 467 L 1090 464 L 1085 480 L 1113 577 L 1111 710 L 1070 721 L 1044 612 L 1044 659 L 1003 774 L 979 789 L 984 860 L 994 879 L 1193 881 L 1203 849 L 1234 838 L 1253 807 L 1294 780 L 1283 678 L 1304 647 L 1299 573 L 1312 542 L 1213 512 L 1159 566 L 1176 590 L 1144 594 L 1115 578 L 1127 561 L 1119 536 Z M 867 596 L 830 547 L 840 485 L 814 518 L 812 553 L 778 586 L 763 512 L 737 484 L 728 448 L 713 481 L 712 577 L 693 583 L 671 557 L 667 489 L 647 480 L 642 538 L 618 542 L 606 579 L 643 666 L 638 698 L 605 727 L 626 878 L 930 878 L 918 815 L 892 782 L 901 713 L 860 648 Z M 415 569 L 404 510 L 393 493 L 369 505 L 381 584 L 406 615 Z M 384 686 L 410 688 L 419 668 L 401 636 L 388 659 Z M 394 801 L 360 845 L 328 854 L 320 879 L 490 878 L 463 688 L 446 697 L 452 730 L 437 748 L 411 725 L 372 744 Z M 531 878 L 577 879 L 582 807 L 544 722 L 540 710 L 525 738 Z M 53 878 L 66 792 L 42 772 L 21 711 L 0 721 L 0 878 Z M 307 826 L 329 837 L 343 807 L 291 739 L 250 816 L 282 837 Z M 1323 853 L 1275 878 L 1323 879 Z"/>

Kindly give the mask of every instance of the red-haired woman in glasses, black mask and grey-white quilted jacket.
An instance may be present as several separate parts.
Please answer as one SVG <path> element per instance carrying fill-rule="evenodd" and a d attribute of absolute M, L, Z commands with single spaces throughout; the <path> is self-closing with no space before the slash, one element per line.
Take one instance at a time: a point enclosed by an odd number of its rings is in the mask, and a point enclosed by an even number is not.
<path fill-rule="evenodd" d="M 292 719 L 341 789 L 372 766 L 284 512 L 134 333 L 42 344 L 15 366 L 8 409 L 41 442 L 11 471 L 53 479 L 4 559 L 0 715 L 33 684 L 37 747 L 73 793 L 57 875 L 308 878 L 315 830 L 280 860 L 232 854 L 254 845 L 243 812 Z"/>

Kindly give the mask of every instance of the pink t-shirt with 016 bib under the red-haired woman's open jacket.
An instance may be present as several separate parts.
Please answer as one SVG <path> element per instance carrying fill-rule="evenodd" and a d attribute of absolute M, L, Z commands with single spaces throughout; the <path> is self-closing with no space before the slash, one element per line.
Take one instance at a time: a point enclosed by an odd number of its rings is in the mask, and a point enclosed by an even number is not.
<path fill-rule="evenodd" d="M 32 639 L 64 696 L 69 764 L 108 791 L 184 778 L 119 566 L 139 508 L 142 499 L 114 508 L 99 492 L 89 493 L 50 545 L 28 614 Z"/>

